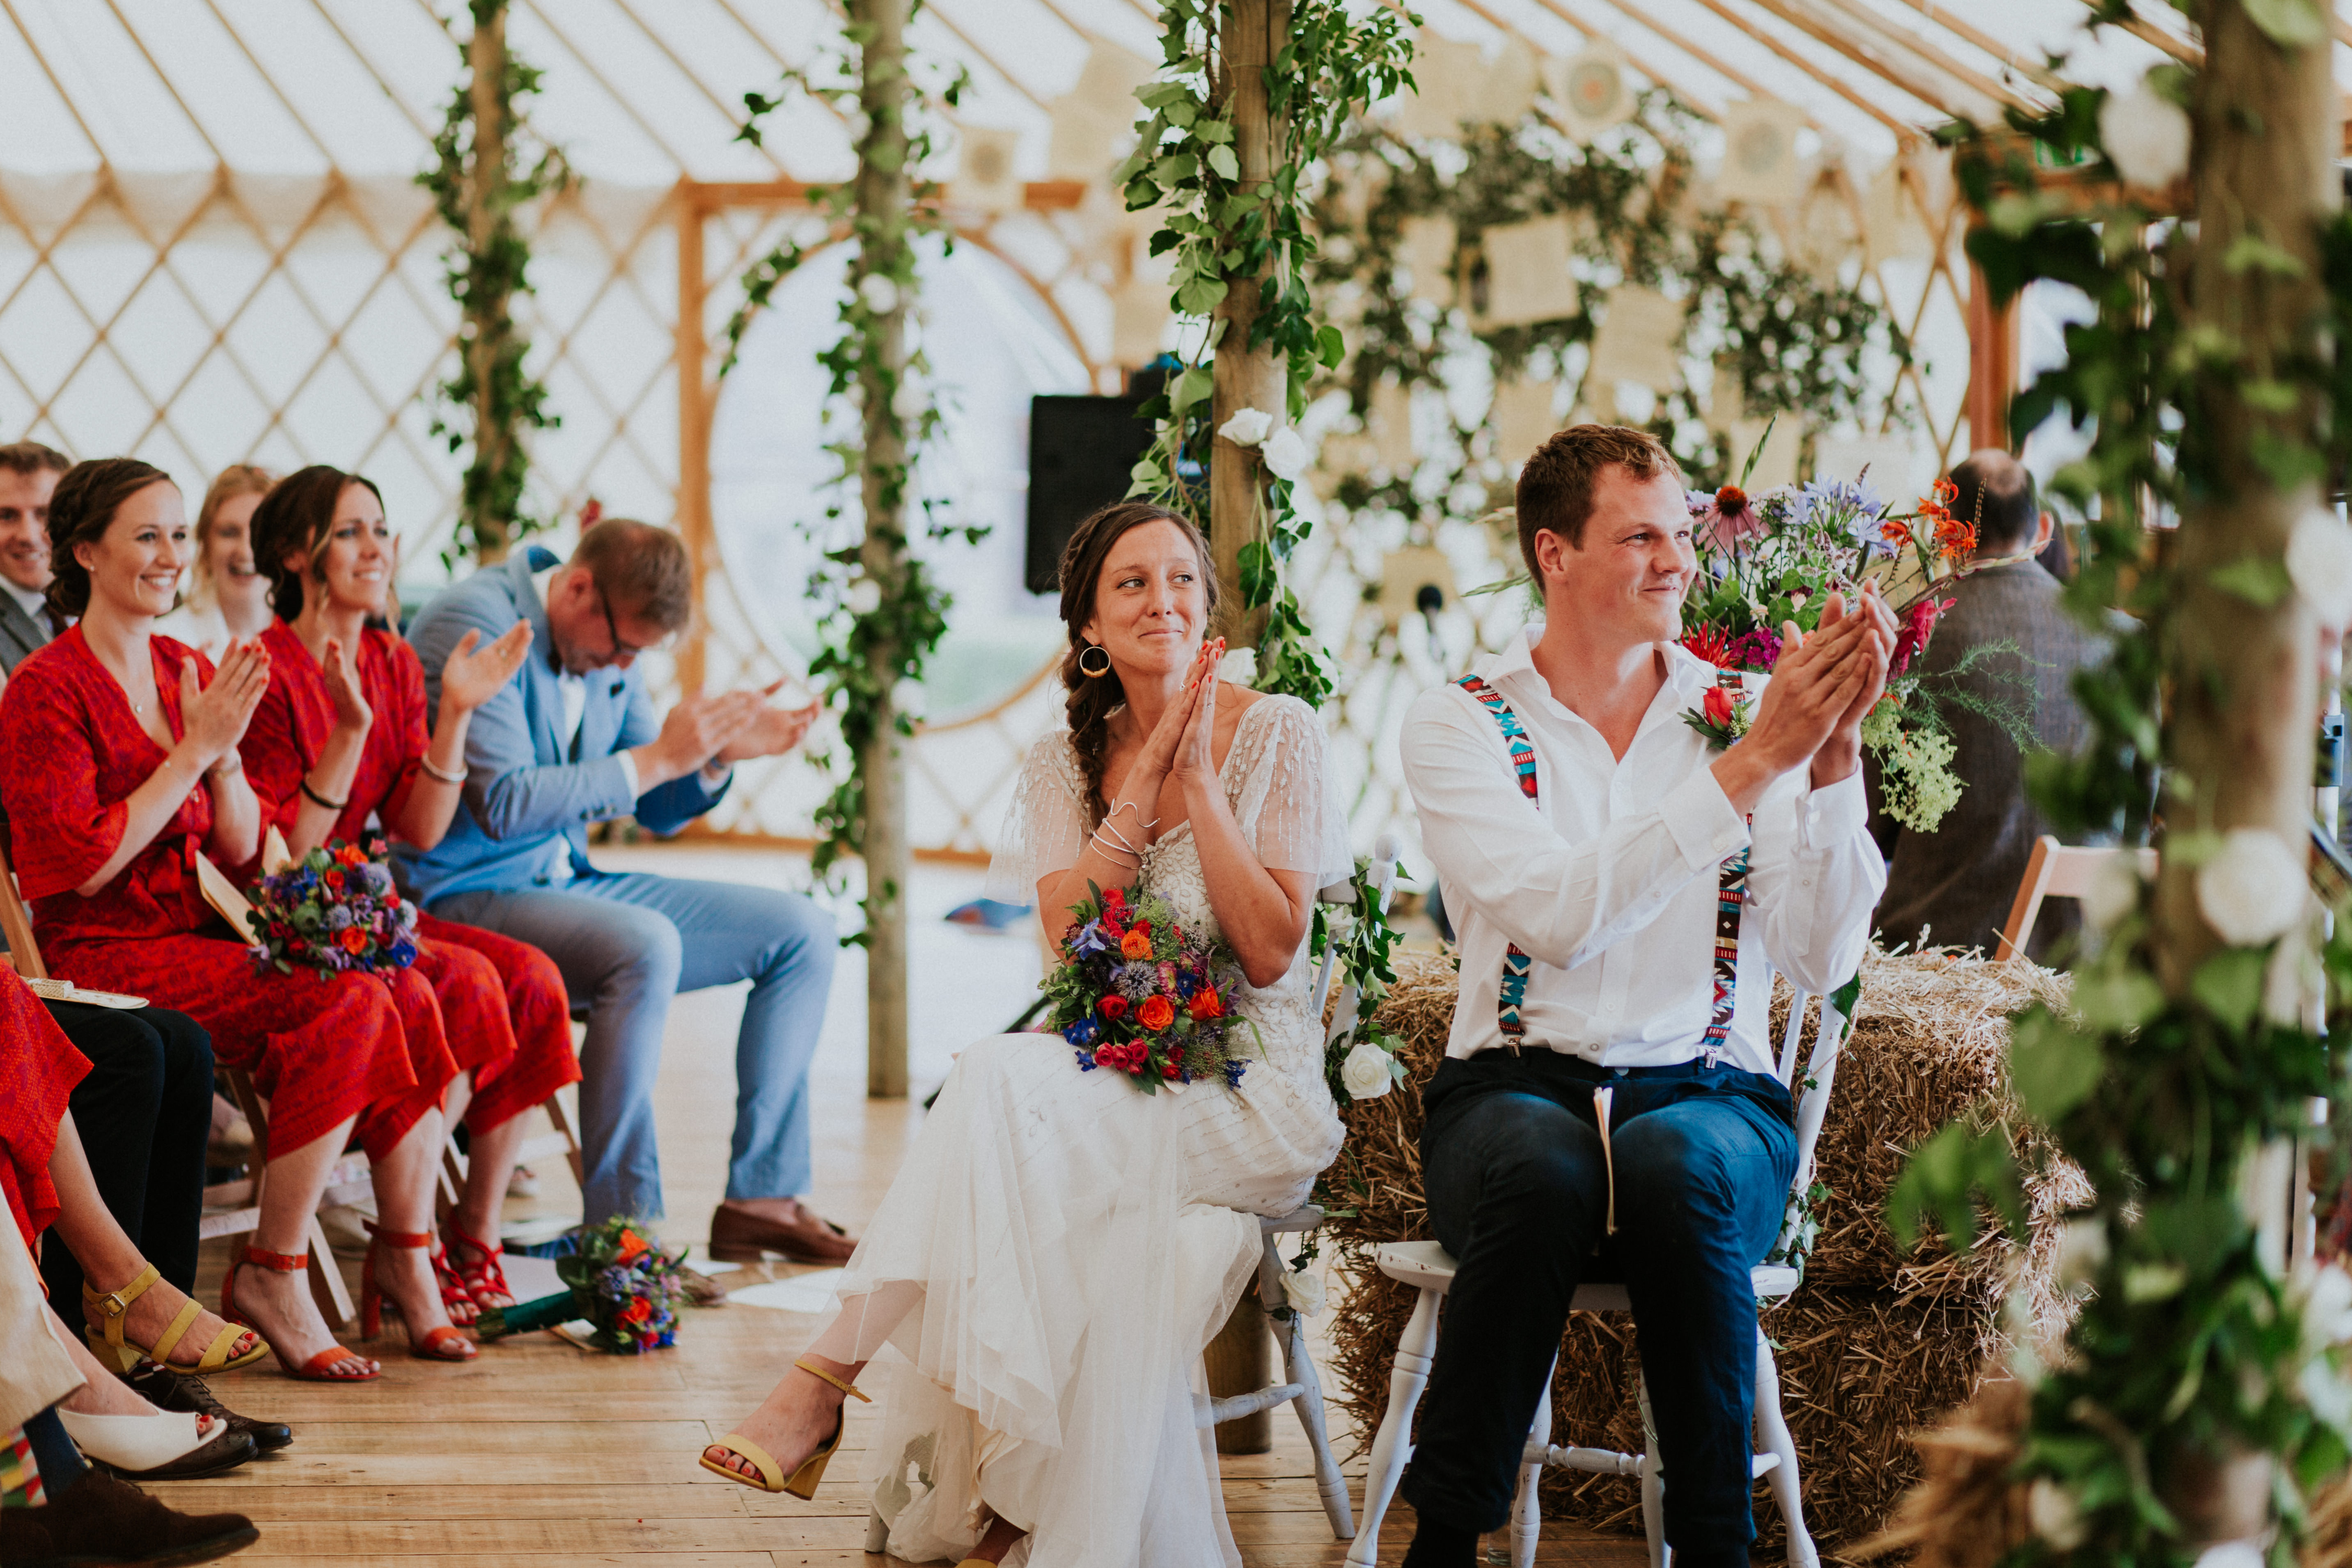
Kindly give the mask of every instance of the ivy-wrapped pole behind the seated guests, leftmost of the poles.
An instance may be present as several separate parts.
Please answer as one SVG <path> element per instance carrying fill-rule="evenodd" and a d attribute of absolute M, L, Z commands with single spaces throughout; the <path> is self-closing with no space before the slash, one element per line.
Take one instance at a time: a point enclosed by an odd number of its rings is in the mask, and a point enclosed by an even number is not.
<path fill-rule="evenodd" d="M 506 49 L 506 0 L 466 0 L 473 33 L 459 45 L 468 80 L 449 94 L 449 110 L 433 136 L 433 167 L 416 183 L 433 193 L 433 207 L 459 235 L 445 259 L 449 299 L 459 303 L 459 369 L 440 383 L 440 395 L 466 411 L 466 428 L 435 414 L 433 435 L 461 451 L 473 440 L 473 461 L 459 494 L 456 538 L 445 552 L 454 567 L 468 552 L 489 564 L 506 559 L 508 545 L 548 527 L 522 510 L 522 487 L 532 473 L 527 430 L 553 430 L 562 421 L 548 411 L 548 388 L 522 360 L 529 339 L 515 329 L 515 294 L 529 294 L 532 244 L 515 223 L 515 209 L 576 183 L 560 148 L 529 143 L 529 115 L 520 103 L 539 92 L 541 73 Z"/>

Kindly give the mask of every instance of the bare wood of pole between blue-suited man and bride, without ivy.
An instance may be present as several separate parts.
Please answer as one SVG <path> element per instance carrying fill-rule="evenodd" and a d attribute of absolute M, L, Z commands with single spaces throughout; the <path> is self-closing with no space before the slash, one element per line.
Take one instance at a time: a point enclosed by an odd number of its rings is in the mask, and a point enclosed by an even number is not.
<path fill-rule="evenodd" d="M 851 21 L 866 28 L 858 106 L 870 127 L 858 146 L 858 254 L 849 287 L 863 292 L 868 277 L 889 277 L 894 296 L 908 252 L 906 9 L 906 0 L 849 0 Z M 875 313 L 873 353 L 858 367 L 866 400 L 866 543 L 858 559 L 884 599 L 906 574 L 908 461 L 891 421 L 891 393 L 906 374 L 906 303 L 898 296 L 889 310 Z M 875 733 L 856 757 L 866 785 L 866 1093 L 875 1100 L 906 1098 L 906 764 L 891 708 L 898 654 L 880 639 L 866 651 L 882 698 L 875 703 Z"/>

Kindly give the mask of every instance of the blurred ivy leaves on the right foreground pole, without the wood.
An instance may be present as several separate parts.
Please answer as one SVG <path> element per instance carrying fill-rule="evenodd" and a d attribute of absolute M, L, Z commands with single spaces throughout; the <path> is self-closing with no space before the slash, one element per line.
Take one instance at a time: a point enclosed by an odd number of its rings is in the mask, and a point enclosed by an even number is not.
<path fill-rule="evenodd" d="M 2103 21 L 2129 19 L 2124 0 L 2100 12 Z M 2246 12 L 2288 42 L 2256 5 Z M 2286 12 L 2296 5 L 2270 14 Z M 2324 49 L 2324 21 L 2312 26 Z M 2147 82 L 2180 106 L 2192 101 L 2190 87 L 2171 66 Z M 2110 158 L 2100 134 L 2107 99 L 2105 89 L 2070 87 L 2046 115 L 2013 113 L 2006 132 L 1952 127 L 1945 139 L 1983 219 L 1969 254 L 1994 299 L 2056 280 L 2096 306 L 2093 320 L 2067 327 L 2067 364 L 2016 400 L 2011 423 L 2023 437 L 2063 411 L 2089 433 L 2089 454 L 2053 480 L 2091 515 L 2067 597 L 2086 623 L 2112 630 L 2114 609 L 2129 611 L 2129 623 L 2107 663 L 2074 677 L 2089 745 L 2039 759 L 2030 790 L 2060 832 L 2105 830 L 2126 844 L 2169 806 L 2164 856 L 2201 867 L 2199 907 L 2211 924 L 2204 877 L 2244 846 L 2237 835 L 2199 832 L 2180 788 L 2187 780 L 2161 773 L 2166 663 L 2192 585 L 2145 524 L 2150 503 L 2173 510 L 2216 494 L 2213 444 L 2180 414 L 2218 388 L 2239 390 L 2260 411 L 2265 435 L 2253 451 L 2277 484 L 2345 473 L 2352 216 L 2338 214 L 2319 235 L 2331 341 L 2317 329 L 2300 343 L 2258 343 L 2192 327 L 2194 233 L 2117 179 L 2122 158 Z M 2053 169 L 2107 183 L 2058 190 Z M 2305 273 L 2263 240 L 2244 252 L 2232 252 L 2232 270 L 2279 270 L 2284 259 L 2293 275 Z M 2296 590 L 2277 559 L 2260 557 L 2211 571 L 2206 583 L 2281 609 Z M 2263 898 L 2291 912 L 2300 856 L 2274 835 L 2251 837 L 2267 839 L 2281 860 Z M 2091 1291 L 2067 1356 L 2053 1368 L 2020 1366 L 2032 1413 L 2013 1474 L 2030 1481 L 2034 1540 L 2006 1561 L 2185 1563 L 2194 1547 L 2183 1509 L 2211 1493 L 2220 1465 L 2272 1455 L 2270 1505 L 2281 1530 L 2270 1561 L 2291 1563 L 2307 1495 L 2352 1458 L 2352 1387 L 2336 1347 L 2352 1328 L 2352 1281 L 2336 1267 L 2281 1276 L 2239 1197 L 2258 1152 L 2300 1128 L 2312 1095 L 2343 1098 L 2352 907 L 2331 903 L 2326 933 L 2317 905 L 2260 940 L 2216 926 L 2223 945 L 2169 994 L 2157 969 L 2154 889 L 2138 879 L 2105 889 L 2072 964 L 2070 1011 L 2034 1006 L 2013 1020 L 2018 1100 L 2091 1175 L 2098 1204 L 2072 1220 L 2065 1241 L 2072 1274 Z M 2312 1004 L 2333 1018 L 2328 1027 L 2310 1025 Z M 1896 1234 L 1907 1241 L 1929 1227 L 1966 1246 L 1980 1199 L 2023 1227 L 2009 1147 L 2004 1128 L 1966 1126 L 1922 1145 L 1891 1199 Z"/>

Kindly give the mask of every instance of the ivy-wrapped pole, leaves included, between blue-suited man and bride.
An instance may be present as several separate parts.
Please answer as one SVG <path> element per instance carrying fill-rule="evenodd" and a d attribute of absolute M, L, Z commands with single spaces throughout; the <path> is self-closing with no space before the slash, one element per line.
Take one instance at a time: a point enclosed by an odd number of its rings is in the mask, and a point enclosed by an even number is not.
<path fill-rule="evenodd" d="M 842 503 L 826 508 L 828 567 L 809 592 L 818 607 L 821 646 L 809 661 L 826 708 L 840 715 L 847 771 L 830 755 L 814 757 L 835 769 L 837 783 L 816 809 L 818 877 L 833 877 L 844 856 L 866 863 L 866 926 L 844 943 L 866 947 L 866 1088 L 875 1098 L 906 1095 L 908 947 L 906 882 L 908 832 L 901 743 L 915 733 L 901 689 L 922 682 L 924 661 L 948 630 L 953 595 L 913 552 L 908 522 L 915 454 L 938 428 L 938 409 L 922 390 L 929 369 L 908 350 L 908 313 L 915 303 L 915 242 L 953 230 L 938 212 L 938 183 L 922 176 L 934 150 L 941 108 L 953 108 L 964 73 L 920 85 L 906 49 L 906 24 L 922 0 L 849 0 L 842 38 L 849 54 L 835 56 L 833 80 L 790 73 L 788 87 L 840 108 L 856 139 L 858 172 L 849 183 L 809 190 L 811 205 L 830 219 L 851 249 L 849 287 L 842 294 L 842 336 L 818 355 L 830 376 L 828 428 L 851 416 L 856 430 L 837 430 L 828 451 L 842 463 L 837 487 L 856 487 L 863 534 L 840 538 Z M 760 141 L 760 120 L 783 96 L 743 94 L 750 110 L 741 139 Z M 953 240 L 950 240 L 953 242 Z M 734 367 L 750 317 L 776 287 L 811 254 L 786 240 L 753 263 L 743 277 L 743 306 L 727 322 Z M 955 527 L 920 503 L 927 541 L 978 541 L 985 527 Z"/>

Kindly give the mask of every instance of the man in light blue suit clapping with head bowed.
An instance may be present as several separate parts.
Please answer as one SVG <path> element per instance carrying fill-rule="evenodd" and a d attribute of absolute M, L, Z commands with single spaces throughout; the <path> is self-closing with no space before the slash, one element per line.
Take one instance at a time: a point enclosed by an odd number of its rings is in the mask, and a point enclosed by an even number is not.
<path fill-rule="evenodd" d="M 466 733 L 466 809 L 433 851 L 400 846 L 402 879 L 442 919 L 503 931 L 555 959 L 581 1046 L 588 1225 L 659 1220 L 654 1077 L 670 997 L 750 980 L 736 1034 L 736 1124 L 727 1201 L 710 1222 L 729 1251 L 767 1248 L 842 1262 L 851 1239 L 809 1192 L 809 1058 L 826 1018 L 837 950 L 811 900 L 731 882 L 600 872 L 588 825 L 635 816 L 675 832 L 727 792 L 731 769 L 800 743 L 816 708 L 779 710 L 760 691 L 687 698 L 666 717 L 635 668 L 691 614 L 675 534 L 609 520 L 569 562 L 527 548 L 456 583 L 409 628 L 428 712 L 442 661 L 532 623 L 532 654 Z"/>

